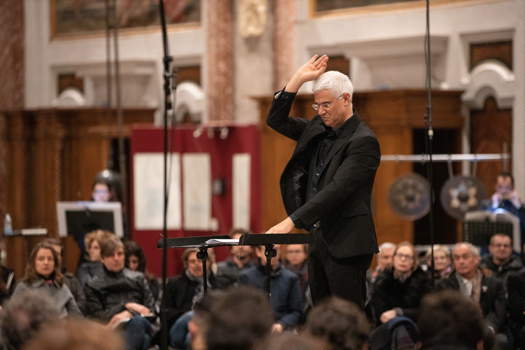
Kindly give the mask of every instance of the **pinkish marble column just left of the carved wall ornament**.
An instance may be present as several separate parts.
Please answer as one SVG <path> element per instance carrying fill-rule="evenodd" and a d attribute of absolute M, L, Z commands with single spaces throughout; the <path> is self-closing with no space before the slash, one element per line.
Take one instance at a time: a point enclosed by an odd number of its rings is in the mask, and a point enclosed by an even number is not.
<path fill-rule="evenodd" d="M 208 121 L 225 123 L 233 111 L 233 3 L 232 0 L 206 1 L 206 48 Z"/>

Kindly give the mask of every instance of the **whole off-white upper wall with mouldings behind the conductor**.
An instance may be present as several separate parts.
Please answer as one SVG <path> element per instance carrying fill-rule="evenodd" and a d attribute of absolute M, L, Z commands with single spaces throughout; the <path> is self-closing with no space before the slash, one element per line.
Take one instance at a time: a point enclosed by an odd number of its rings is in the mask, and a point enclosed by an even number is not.
<path fill-rule="evenodd" d="M 94 85 L 95 92 L 88 97 L 100 103 L 105 96 L 101 92 L 105 91 L 104 37 L 50 40 L 49 1 L 24 1 L 26 108 L 50 106 L 56 97 L 56 74 L 70 69 L 94 77 L 88 79 L 88 85 Z M 310 18 L 310 0 L 294 1 L 299 9 L 296 66 L 317 52 L 345 54 L 352 60 L 351 75 L 357 90 L 424 86 L 424 7 Z M 206 2 L 203 1 L 203 7 Z M 258 120 L 257 105 L 250 96 L 272 93 L 271 9 L 269 16 L 265 32 L 255 40 L 240 38 L 236 27 L 234 119 L 239 123 Z M 175 64 L 202 64 L 206 90 L 205 27 L 206 23 L 193 29 L 171 28 L 169 40 Z M 513 40 L 513 164 L 517 189 L 525 195 L 525 1 L 469 0 L 432 6 L 431 34 L 433 86 L 449 89 L 467 90 L 472 83 L 468 75 L 469 43 Z M 133 35 L 122 32 L 123 75 L 133 86 L 128 95 L 124 93 L 124 105 L 139 100 L 142 104 L 160 106 L 161 44 L 160 31 Z"/>

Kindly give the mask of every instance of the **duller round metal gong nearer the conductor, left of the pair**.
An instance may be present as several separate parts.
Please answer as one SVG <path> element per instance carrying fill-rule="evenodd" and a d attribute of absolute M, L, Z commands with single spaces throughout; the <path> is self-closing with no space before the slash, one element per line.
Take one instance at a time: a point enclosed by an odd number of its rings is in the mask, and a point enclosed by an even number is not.
<path fill-rule="evenodd" d="M 418 174 L 401 176 L 390 186 L 388 203 L 397 215 L 417 220 L 430 210 L 430 185 Z"/>

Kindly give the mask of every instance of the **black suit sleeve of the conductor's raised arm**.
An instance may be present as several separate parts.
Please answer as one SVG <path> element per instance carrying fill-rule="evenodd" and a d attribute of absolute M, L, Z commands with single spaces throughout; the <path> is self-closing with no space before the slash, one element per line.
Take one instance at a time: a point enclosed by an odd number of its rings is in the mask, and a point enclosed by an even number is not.
<path fill-rule="evenodd" d="M 308 121 L 303 118 L 289 116 L 295 95 L 284 90 L 277 92 L 266 118 L 266 123 L 278 133 L 297 141 L 306 128 Z"/>

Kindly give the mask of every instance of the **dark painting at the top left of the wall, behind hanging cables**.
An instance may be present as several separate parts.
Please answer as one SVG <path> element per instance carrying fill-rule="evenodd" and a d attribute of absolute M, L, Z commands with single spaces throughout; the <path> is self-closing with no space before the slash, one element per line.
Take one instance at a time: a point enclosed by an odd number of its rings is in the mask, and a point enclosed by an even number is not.
<path fill-rule="evenodd" d="M 53 36 L 103 32 L 106 29 L 106 3 L 115 9 L 121 29 L 160 25 L 158 0 L 50 1 Z M 200 23 L 201 0 L 164 0 L 164 8 L 168 24 Z"/>

